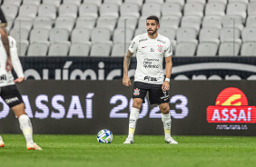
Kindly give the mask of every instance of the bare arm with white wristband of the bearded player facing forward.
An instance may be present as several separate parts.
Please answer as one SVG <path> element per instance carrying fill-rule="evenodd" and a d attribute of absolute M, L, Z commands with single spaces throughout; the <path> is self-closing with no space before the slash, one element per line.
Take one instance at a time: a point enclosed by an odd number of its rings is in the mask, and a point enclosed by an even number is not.
<path fill-rule="evenodd" d="M 166 78 L 162 83 L 162 91 L 169 91 L 170 89 L 170 78 L 172 74 L 172 56 L 165 57 L 165 72 Z"/>

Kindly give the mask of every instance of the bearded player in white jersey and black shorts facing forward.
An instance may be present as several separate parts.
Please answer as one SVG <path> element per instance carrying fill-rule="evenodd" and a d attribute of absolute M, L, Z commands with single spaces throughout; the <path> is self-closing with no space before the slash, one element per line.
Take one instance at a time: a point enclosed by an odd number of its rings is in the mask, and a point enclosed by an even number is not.
<path fill-rule="evenodd" d="M 133 84 L 133 108 L 129 118 L 129 134 L 123 143 L 133 143 L 133 134 L 139 118 L 140 109 L 144 103 L 144 97 L 149 92 L 151 104 L 158 104 L 165 133 L 164 140 L 167 143 L 175 143 L 171 137 L 171 115 L 169 107 L 170 77 L 172 73 L 172 45 L 167 37 L 158 34 L 160 28 L 157 16 L 149 16 L 146 19 L 147 33 L 133 38 L 127 54 L 123 60 L 123 84 L 132 85 L 128 76 L 129 64 L 133 54 L 136 54 L 137 69 Z M 162 61 L 165 58 L 166 78 L 162 70 Z"/>

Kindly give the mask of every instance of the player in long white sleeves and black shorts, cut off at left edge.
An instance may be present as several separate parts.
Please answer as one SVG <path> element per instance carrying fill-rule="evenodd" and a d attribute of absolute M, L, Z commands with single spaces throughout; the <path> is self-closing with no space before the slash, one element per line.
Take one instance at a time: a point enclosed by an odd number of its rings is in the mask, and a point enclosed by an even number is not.
<path fill-rule="evenodd" d="M 1 41 L 0 41 L 1 42 Z M 25 113 L 25 104 L 22 100 L 22 96 L 19 93 L 18 89 L 15 86 L 15 83 L 21 83 L 24 81 L 25 77 L 23 74 L 23 68 L 20 63 L 15 39 L 9 36 L 9 45 L 11 53 L 11 61 L 14 65 L 15 73 L 18 78 L 14 80 L 14 77 L 10 71 L 5 70 L 5 61 L 7 55 L 5 49 L 3 48 L 3 43 L 0 43 L 0 96 L 3 98 L 5 103 L 13 110 L 18 121 L 20 123 L 20 128 L 25 136 L 26 148 L 27 150 L 42 150 L 34 141 L 33 141 L 33 131 L 32 124 L 29 117 Z M 5 143 L 0 135 L 0 148 L 5 147 Z"/>

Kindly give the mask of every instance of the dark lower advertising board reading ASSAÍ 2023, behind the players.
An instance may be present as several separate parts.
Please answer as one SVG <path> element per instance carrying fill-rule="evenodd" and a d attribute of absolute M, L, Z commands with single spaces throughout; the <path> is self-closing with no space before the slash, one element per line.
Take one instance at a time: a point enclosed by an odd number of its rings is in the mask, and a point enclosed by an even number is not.
<path fill-rule="evenodd" d="M 256 82 L 172 81 L 170 107 L 174 135 L 255 135 Z M 34 81 L 17 84 L 34 133 L 128 132 L 133 88 L 114 81 Z M 146 102 L 148 102 L 146 100 Z M 0 100 L 0 133 L 21 133 Z M 163 134 L 156 105 L 143 104 L 136 134 Z"/>

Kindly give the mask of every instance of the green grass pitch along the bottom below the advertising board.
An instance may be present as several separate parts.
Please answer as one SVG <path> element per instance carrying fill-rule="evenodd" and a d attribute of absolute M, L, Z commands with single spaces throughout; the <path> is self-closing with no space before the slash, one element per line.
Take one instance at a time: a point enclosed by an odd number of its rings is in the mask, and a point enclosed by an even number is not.
<path fill-rule="evenodd" d="M 27 151 L 21 134 L 3 134 L 1 167 L 234 167 L 256 166 L 255 137 L 136 135 L 134 144 L 123 144 L 126 135 L 113 135 L 113 143 L 98 143 L 96 135 L 34 135 L 43 151 Z"/>

